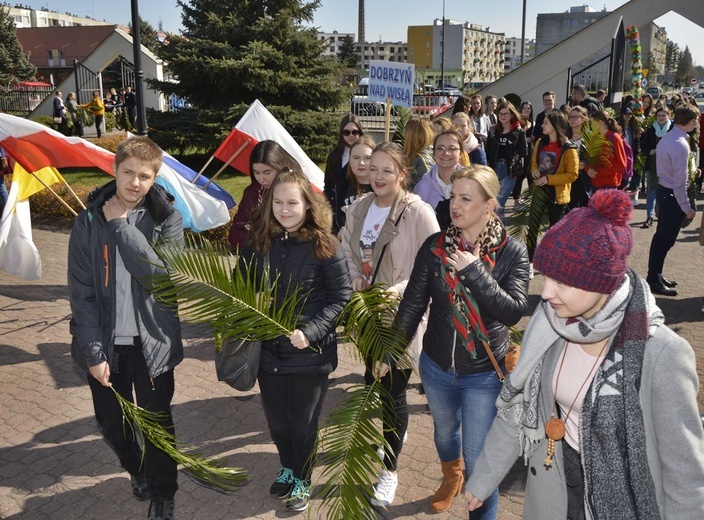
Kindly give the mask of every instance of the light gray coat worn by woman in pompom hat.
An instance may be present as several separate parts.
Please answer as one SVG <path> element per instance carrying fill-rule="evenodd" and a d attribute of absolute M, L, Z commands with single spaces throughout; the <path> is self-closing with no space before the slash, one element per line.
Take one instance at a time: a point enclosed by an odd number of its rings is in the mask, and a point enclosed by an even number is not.
<path fill-rule="evenodd" d="M 558 342 L 550 348 L 543 366 L 539 410 L 542 425 L 552 413 L 552 381 L 560 346 Z M 691 346 L 668 327 L 659 327 L 646 344 L 640 404 L 648 465 L 662 520 L 704 518 L 704 431 L 697 411 L 698 389 Z M 467 482 L 467 491 L 484 499 L 496 489 L 520 456 L 517 435 L 515 425 L 499 417 L 494 419 Z M 547 439 L 528 460 L 523 518 L 564 520 L 567 488 L 562 442 L 555 443 L 555 458 L 549 469 L 543 463 L 546 443 Z"/>

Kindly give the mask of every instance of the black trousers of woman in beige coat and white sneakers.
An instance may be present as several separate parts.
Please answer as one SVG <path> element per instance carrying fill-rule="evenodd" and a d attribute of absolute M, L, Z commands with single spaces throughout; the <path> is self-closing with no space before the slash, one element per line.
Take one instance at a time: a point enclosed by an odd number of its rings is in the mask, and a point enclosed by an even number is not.
<path fill-rule="evenodd" d="M 381 394 L 381 405 L 391 412 L 394 420 L 391 424 L 383 422 L 384 440 L 391 451 L 384 450 L 384 467 L 389 471 L 396 471 L 398 468 L 398 456 L 403 448 L 403 436 L 408 429 L 408 401 L 406 399 L 406 387 L 411 378 L 413 370 L 392 368 L 389 373 L 381 378 L 381 386 L 386 392 Z M 364 373 L 364 382 L 372 384 L 374 376 L 367 370 Z"/>

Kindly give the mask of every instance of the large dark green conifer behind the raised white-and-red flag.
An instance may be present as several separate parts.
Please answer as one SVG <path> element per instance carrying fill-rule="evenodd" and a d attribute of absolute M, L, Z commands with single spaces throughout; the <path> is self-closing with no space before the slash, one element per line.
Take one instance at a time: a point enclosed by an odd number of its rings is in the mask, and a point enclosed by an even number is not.
<path fill-rule="evenodd" d="M 182 36 L 157 50 L 177 80 L 152 82 L 199 108 L 259 99 L 298 110 L 339 106 L 340 72 L 313 21 L 320 0 L 178 0 Z"/>

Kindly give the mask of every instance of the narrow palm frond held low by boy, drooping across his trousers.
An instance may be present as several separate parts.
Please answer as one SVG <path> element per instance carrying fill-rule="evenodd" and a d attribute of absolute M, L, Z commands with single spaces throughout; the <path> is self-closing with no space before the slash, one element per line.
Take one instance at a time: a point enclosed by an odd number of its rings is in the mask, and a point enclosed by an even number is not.
<path fill-rule="evenodd" d="M 159 424 L 164 418 L 162 413 L 140 408 L 122 397 L 113 387 L 110 388 L 120 405 L 124 421 L 130 427 L 135 425 L 142 435 L 142 456 L 144 442 L 150 442 L 177 464 L 181 464 L 186 474 L 197 483 L 223 493 L 235 491 L 249 481 L 249 475 L 243 469 L 226 466 L 223 459 L 211 459 L 177 444 L 173 434 Z"/>

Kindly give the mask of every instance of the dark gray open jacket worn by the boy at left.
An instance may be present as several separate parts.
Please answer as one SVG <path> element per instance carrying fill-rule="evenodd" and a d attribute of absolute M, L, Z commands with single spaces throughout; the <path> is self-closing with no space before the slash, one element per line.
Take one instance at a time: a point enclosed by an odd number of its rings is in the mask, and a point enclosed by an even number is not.
<path fill-rule="evenodd" d="M 145 197 L 146 212 L 136 226 L 126 219 L 110 222 L 103 204 L 115 194 L 115 181 L 91 193 L 88 209 L 74 222 L 68 249 L 68 290 L 71 303 L 71 355 L 84 370 L 115 356 L 115 249 L 132 275 L 132 296 L 144 357 L 152 378 L 183 360 L 181 325 L 176 311 L 150 292 L 151 279 L 166 273 L 152 244 L 175 240 L 183 244 L 181 215 L 171 197 L 154 185 Z"/>

